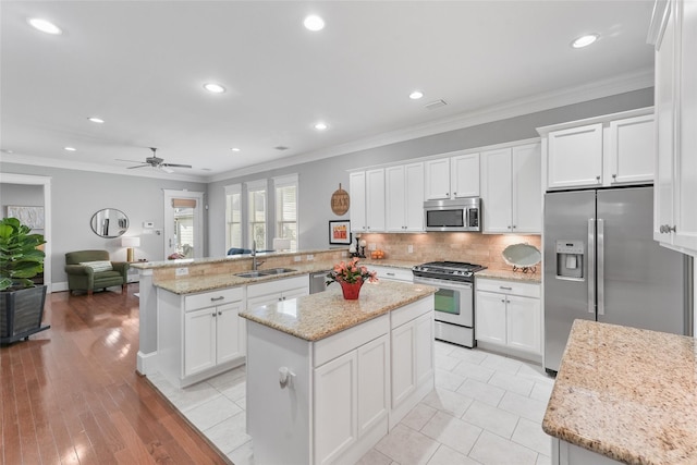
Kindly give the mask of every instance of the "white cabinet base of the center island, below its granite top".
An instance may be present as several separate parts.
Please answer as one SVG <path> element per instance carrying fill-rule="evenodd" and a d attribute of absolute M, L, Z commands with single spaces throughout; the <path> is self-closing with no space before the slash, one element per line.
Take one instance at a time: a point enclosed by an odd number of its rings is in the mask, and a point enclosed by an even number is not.
<path fill-rule="evenodd" d="M 255 462 L 357 463 L 433 389 L 432 328 L 433 296 L 314 342 L 247 321 Z"/>

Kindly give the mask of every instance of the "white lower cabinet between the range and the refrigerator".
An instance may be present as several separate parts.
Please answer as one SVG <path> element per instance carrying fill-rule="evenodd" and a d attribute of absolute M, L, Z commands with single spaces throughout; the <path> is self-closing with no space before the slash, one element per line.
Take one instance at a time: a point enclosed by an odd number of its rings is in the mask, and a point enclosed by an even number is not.
<path fill-rule="evenodd" d="M 541 306 L 537 283 L 477 279 L 475 336 L 491 343 L 540 356 Z"/>

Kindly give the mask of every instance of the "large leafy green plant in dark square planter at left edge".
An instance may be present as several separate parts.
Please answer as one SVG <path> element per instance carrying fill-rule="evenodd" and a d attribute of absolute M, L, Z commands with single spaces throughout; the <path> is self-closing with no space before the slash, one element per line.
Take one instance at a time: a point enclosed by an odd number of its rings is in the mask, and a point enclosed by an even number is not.
<path fill-rule="evenodd" d="M 49 329 L 41 327 L 46 285 L 32 278 L 44 271 L 44 235 L 16 218 L 0 220 L 0 343 L 9 344 Z"/>

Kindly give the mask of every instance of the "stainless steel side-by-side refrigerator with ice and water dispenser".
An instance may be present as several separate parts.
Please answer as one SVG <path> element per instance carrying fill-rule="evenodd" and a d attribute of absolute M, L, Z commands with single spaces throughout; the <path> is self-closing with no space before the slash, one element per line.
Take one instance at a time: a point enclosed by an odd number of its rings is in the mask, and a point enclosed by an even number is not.
<path fill-rule="evenodd" d="M 545 368 L 575 319 L 687 334 L 692 258 L 653 241 L 651 186 L 545 196 Z"/>

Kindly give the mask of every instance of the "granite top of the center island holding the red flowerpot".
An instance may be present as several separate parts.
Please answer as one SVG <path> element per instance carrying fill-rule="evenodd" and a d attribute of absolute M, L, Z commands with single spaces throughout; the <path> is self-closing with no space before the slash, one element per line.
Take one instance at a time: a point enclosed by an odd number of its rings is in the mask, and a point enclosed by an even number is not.
<path fill-rule="evenodd" d="M 332 284 L 325 292 L 242 311 L 241 317 L 306 341 L 318 341 L 416 302 L 436 287 L 393 281 L 365 282 L 357 301 Z"/>

